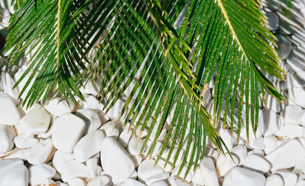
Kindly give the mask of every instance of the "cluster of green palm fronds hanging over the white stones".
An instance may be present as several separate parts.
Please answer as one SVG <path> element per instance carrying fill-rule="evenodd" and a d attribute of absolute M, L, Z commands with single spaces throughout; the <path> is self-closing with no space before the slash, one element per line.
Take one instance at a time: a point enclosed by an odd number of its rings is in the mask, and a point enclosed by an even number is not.
<path fill-rule="evenodd" d="M 92 77 L 96 82 L 102 74 L 100 96 L 107 98 L 104 104 L 107 112 L 132 81 L 136 81 L 121 112 L 122 116 L 129 107 L 125 124 L 130 121 L 130 125 L 134 125 L 133 135 L 141 126 L 138 139 L 142 131 L 148 129 L 141 152 L 154 125 L 158 125 L 147 154 L 151 156 L 172 111 L 170 129 L 155 159 L 157 162 L 161 158 L 172 136 L 166 163 L 177 145 L 172 165 L 175 166 L 186 138 L 182 165 L 188 163 L 188 173 L 191 165 L 196 167 L 203 158 L 207 135 L 224 153 L 222 145 L 225 144 L 213 126 L 213 123 L 218 124 L 223 105 L 224 123 L 231 118 L 232 133 L 235 106 L 238 108 L 239 139 L 243 107 L 246 108 L 247 134 L 248 124 L 252 125 L 254 133 L 257 128 L 259 85 L 263 95 L 267 91 L 278 101 L 284 100 L 263 75 L 268 73 L 283 80 L 285 73 L 279 66 L 276 52 L 268 44 L 275 45 L 275 37 L 265 27 L 259 2 L 81 2 L 20 1 L 16 5 L 6 43 L 6 50 L 13 47 L 9 57 L 13 62 L 31 43 L 39 46 L 17 82 L 28 73 L 38 73 L 36 79 L 31 76 L 26 84 L 34 81 L 24 102 L 27 106 L 40 97 L 44 101 L 52 86 L 58 87 L 66 100 L 69 96 L 75 102 L 73 93 L 84 99 L 79 85 L 85 77 Z M 98 43 L 96 47 L 95 43 Z M 95 57 L 88 59 L 86 56 L 92 50 L 96 51 Z M 203 97 L 213 74 L 214 109 L 210 116 L 203 107 Z M 236 101 L 239 101 L 237 105 Z M 228 113 L 231 114 L 228 116 Z M 189 134 L 185 133 L 187 127 Z M 182 166 L 179 174 L 181 171 Z"/>

